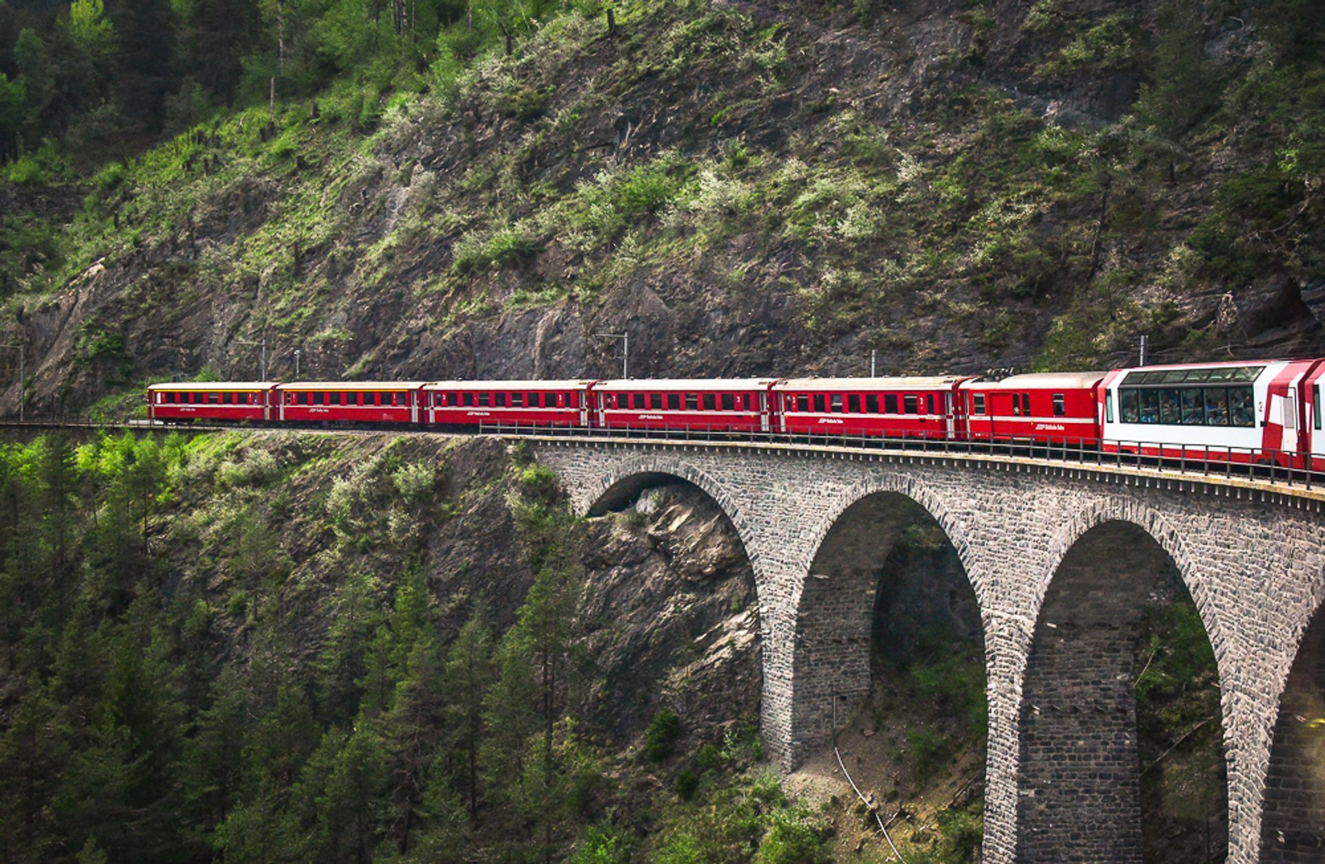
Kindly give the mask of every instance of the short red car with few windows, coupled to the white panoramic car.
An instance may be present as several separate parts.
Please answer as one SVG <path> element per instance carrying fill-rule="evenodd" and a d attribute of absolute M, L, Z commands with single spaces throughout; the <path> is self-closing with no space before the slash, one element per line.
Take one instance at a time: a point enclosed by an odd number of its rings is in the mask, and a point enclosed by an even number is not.
<path fill-rule="evenodd" d="M 1106 372 L 1041 372 L 962 384 L 973 441 L 1100 443 L 1096 388 Z"/>

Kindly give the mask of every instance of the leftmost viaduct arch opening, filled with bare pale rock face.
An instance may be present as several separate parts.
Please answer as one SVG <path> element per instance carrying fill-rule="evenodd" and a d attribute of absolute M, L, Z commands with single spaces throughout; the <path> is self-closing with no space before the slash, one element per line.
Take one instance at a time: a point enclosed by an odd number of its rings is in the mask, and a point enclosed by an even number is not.
<path fill-rule="evenodd" d="M 680 718 L 677 751 L 758 729 L 759 603 L 743 539 L 718 498 L 678 474 L 639 472 L 588 508 L 584 619 L 603 671 L 596 731 L 643 739 L 659 712 Z M 661 614 L 659 610 L 664 610 Z"/>

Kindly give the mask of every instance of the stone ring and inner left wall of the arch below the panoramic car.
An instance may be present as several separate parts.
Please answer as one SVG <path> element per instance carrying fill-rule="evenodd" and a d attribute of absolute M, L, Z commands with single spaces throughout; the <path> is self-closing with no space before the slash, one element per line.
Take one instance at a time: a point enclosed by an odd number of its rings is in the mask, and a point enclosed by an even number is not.
<path fill-rule="evenodd" d="M 1141 620 L 1157 587 L 1181 583 L 1219 657 L 1214 603 L 1182 535 L 1130 498 L 1104 498 L 1073 514 L 1047 551 L 1020 655 L 1015 860 L 1140 864 Z M 1222 700 L 1224 729 L 1227 712 Z"/>

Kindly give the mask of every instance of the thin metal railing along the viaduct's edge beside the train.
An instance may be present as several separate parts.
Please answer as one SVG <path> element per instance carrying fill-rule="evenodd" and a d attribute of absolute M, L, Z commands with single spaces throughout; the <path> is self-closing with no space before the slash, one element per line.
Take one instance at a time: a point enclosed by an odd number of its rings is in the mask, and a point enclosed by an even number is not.
<path fill-rule="evenodd" d="M 1275 486 L 1316 489 L 1325 486 L 1325 459 L 1313 460 L 1296 451 L 1246 447 L 1207 447 L 1167 441 L 988 440 L 916 435 L 913 429 L 888 435 L 812 432 L 763 432 L 725 427 L 662 425 L 648 429 L 621 427 L 567 427 L 529 423 L 480 423 L 480 435 L 555 436 L 653 441 L 749 443 L 810 448 L 857 448 L 878 453 L 925 453 L 931 456 L 986 456 L 1032 459 L 1053 464 L 1178 472 L 1190 477 L 1244 478 Z"/>

